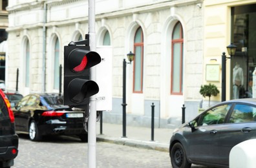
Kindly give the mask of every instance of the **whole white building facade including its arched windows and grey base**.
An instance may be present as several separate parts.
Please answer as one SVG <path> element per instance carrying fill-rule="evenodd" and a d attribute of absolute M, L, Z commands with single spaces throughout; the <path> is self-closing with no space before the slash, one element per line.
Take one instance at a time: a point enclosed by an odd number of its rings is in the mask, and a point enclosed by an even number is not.
<path fill-rule="evenodd" d="M 9 1 L 7 89 L 16 88 L 18 68 L 21 94 L 59 92 L 63 48 L 89 33 L 88 5 Z M 130 51 L 135 59 L 127 65 L 127 124 L 150 127 L 152 103 L 156 127 L 180 125 L 183 105 L 186 120 L 193 118 L 203 100 L 208 53 L 204 1 L 103 0 L 95 6 L 96 45 L 112 48 L 112 110 L 103 121 L 122 123 L 122 65 Z"/>

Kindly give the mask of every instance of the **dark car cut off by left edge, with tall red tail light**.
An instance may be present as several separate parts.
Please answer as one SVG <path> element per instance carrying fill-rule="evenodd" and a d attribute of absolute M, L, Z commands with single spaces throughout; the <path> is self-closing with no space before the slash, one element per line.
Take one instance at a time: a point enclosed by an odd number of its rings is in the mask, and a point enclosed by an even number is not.
<path fill-rule="evenodd" d="M 14 165 L 18 153 L 19 137 L 15 132 L 14 114 L 10 102 L 0 89 L 0 167 Z"/>

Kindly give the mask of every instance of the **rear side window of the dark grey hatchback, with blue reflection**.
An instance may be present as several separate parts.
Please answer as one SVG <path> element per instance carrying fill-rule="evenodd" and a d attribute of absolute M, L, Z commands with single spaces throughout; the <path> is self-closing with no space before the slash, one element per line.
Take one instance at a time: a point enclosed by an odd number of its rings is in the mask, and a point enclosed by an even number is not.
<path fill-rule="evenodd" d="M 229 118 L 229 123 L 244 123 L 256 120 L 256 107 L 237 104 Z"/>

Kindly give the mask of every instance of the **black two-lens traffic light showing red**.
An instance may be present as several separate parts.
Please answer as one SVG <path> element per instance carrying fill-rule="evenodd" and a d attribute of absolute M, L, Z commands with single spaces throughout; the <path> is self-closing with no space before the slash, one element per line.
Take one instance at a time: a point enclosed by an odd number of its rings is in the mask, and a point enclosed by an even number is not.
<path fill-rule="evenodd" d="M 89 39 L 70 42 L 64 47 L 64 105 L 83 108 L 99 92 L 90 80 L 90 68 L 101 62 L 97 52 L 90 51 Z"/>

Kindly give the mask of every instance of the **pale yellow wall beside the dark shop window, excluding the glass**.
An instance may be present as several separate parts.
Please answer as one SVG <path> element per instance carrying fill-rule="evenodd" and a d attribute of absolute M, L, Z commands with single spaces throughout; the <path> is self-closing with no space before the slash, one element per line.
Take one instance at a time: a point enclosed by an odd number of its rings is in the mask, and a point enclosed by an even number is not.
<path fill-rule="evenodd" d="M 219 81 L 207 81 L 217 85 L 220 94 L 213 100 L 221 100 L 221 67 L 222 52 L 228 51 L 226 47 L 231 41 L 231 7 L 256 3 L 256 0 L 205 0 L 204 1 L 204 76 L 206 65 L 220 65 Z M 226 60 L 226 100 L 230 100 L 230 59 Z"/>

